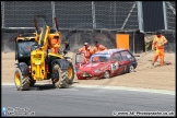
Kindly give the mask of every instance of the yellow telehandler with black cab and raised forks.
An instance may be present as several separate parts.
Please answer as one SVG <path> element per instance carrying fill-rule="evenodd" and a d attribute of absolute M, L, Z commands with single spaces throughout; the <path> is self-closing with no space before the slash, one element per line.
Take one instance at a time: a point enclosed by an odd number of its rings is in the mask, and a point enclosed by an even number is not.
<path fill-rule="evenodd" d="M 67 87 L 74 79 L 74 68 L 70 57 L 49 52 L 51 39 L 59 37 L 57 19 L 55 17 L 57 32 L 50 33 L 50 27 L 44 25 L 40 33 L 33 35 L 21 35 L 15 40 L 15 60 L 17 60 L 14 72 L 14 83 L 17 91 L 28 90 L 36 81 L 51 79 L 55 87 Z M 35 27 L 37 25 L 35 21 Z M 61 45 L 61 44 L 60 44 Z M 66 43 L 66 49 L 69 44 Z M 60 48 L 60 47 L 59 47 Z M 67 54 L 64 50 L 63 54 Z"/>

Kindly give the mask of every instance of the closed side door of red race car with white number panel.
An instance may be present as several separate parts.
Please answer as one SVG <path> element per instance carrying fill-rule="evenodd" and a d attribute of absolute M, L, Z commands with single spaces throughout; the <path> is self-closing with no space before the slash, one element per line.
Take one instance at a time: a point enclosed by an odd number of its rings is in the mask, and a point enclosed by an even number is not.
<path fill-rule="evenodd" d="M 115 52 L 111 57 L 111 71 L 114 75 L 120 74 L 123 69 L 120 52 Z"/>

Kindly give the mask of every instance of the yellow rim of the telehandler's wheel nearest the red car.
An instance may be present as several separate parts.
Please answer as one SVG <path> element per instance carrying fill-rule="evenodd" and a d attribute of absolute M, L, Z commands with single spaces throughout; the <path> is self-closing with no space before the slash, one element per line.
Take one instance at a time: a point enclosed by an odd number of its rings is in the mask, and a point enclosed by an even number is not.
<path fill-rule="evenodd" d="M 70 63 L 70 67 L 68 68 L 68 84 L 72 84 L 73 82 L 73 79 L 74 79 L 74 68 L 73 68 L 73 64 Z"/>

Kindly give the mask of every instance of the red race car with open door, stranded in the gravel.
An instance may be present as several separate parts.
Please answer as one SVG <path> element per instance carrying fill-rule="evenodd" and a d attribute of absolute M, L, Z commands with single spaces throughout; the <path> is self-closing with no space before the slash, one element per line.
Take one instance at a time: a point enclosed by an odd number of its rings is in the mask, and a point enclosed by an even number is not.
<path fill-rule="evenodd" d="M 107 49 L 94 54 L 84 62 L 82 55 L 75 57 L 75 71 L 79 80 L 111 78 L 133 72 L 138 62 L 128 49 Z"/>

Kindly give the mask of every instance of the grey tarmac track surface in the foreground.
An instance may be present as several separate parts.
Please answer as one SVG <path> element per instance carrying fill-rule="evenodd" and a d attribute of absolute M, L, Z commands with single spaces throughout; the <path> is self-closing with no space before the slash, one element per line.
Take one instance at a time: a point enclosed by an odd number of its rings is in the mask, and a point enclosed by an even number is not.
<path fill-rule="evenodd" d="M 131 111 L 138 116 L 149 116 L 150 111 L 175 116 L 175 94 L 79 86 L 58 90 L 51 85 L 21 92 L 2 85 L 3 107 L 27 107 L 35 116 L 127 116 Z"/>

